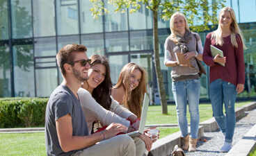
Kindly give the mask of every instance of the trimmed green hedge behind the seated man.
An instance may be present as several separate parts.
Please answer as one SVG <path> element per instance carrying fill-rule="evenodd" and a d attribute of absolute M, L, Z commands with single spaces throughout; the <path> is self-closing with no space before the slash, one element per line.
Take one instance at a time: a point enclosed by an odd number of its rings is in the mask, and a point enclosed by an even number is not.
<path fill-rule="evenodd" d="M 45 124 L 49 98 L 1 98 L 0 128 L 35 127 Z"/>

